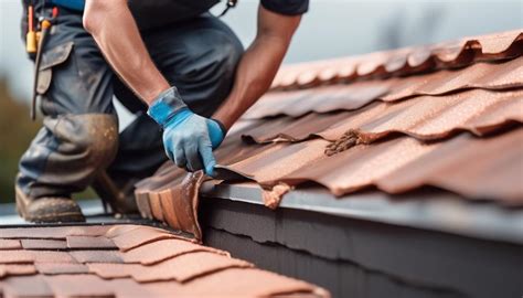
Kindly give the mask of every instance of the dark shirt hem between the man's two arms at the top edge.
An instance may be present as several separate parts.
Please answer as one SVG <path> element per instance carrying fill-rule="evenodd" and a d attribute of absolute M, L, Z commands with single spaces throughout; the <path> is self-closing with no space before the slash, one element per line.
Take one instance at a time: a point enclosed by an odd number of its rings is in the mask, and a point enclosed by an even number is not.
<path fill-rule="evenodd" d="M 154 29 L 198 17 L 220 0 L 129 0 L 138 28 Z"/>

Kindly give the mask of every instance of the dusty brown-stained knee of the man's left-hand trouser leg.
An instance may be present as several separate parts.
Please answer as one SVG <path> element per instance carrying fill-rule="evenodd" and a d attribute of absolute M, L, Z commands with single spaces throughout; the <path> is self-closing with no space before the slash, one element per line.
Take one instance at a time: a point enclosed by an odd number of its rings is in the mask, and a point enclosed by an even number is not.
<path fill-rule="evenodd" d="M 74 163 L 86 168 L 106 168 L 118 149 L 118 123 L 114 115 L 65 115 L 44 124 L 61 140 L 58 150 Z"/>

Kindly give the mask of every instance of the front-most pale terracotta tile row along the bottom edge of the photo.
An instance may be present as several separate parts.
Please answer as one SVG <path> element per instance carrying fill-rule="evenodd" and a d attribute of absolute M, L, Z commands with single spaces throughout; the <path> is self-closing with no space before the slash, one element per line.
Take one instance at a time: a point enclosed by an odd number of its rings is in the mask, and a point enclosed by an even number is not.
<path fill-rule="evenodd" d="M 288 278 L 285 281 L 287 283 L 282 283 L 279 275 L 255 268 L 222 270 L 206 278 L 191 280 L 190 287 L 161 281 L 138 284 L 130 278 L 103 279 L 95 275 L 82 274 L 38 275 L 8 278 L 3 281 L 3 291 L 8 297 L 172 297 L 173 294 L 175 297 L 270 297 L 287 294 L 310 296 L 310 290 L 301 290 L 308 284 Z M 311 296 L 318 297 L 316 294 Z"/>

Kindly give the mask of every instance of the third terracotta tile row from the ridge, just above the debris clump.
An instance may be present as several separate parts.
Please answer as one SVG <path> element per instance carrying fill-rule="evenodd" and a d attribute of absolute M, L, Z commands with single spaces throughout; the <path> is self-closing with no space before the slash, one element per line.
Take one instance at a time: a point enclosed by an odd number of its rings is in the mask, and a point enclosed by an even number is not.
<path fill-rule="evenodd" d="M 424 140 L 445 138 L 461 130 L 483 136 L 511 123 L 523 123 L 522 107 L 523 89 L 470 89 L 397 103 L 376 102 L 352 111 L 252 120 L 242 135 L 260 143 L 312 137 L 335 141 L 348 131 L 354 131 L 360 142 L 365 143 L 394 132 Z"/>

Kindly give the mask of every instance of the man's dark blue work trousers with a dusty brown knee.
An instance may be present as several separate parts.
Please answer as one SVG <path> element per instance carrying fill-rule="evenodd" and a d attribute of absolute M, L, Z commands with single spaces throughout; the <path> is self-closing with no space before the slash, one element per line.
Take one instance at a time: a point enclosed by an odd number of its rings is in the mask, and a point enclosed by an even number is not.
<path fill-rule="evenodd" d="M 189 107 L 210 117 L 228 95 L 243 53 L 230 28 L 205 13 L 142 32 L 142 38 Z M 82 14 L 61 9 L 44 46 L 38 92 L 43 127 L 17 178 L 25 194 L 67 196 L 86 189 L 103 170 L 121 184 L 152 174 L 167 160 L 160 128 L 113 73 L 84 30 Z M 114 95 L 138 116 L 120 135 Z"/>

